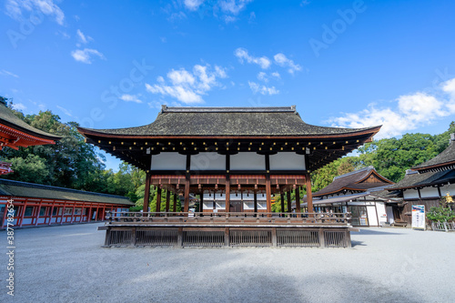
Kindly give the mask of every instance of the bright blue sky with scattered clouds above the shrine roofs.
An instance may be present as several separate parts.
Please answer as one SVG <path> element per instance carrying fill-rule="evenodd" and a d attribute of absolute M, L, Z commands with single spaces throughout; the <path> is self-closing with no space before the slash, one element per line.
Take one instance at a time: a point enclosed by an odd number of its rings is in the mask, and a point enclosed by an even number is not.
<path fill-rule="evenodd" d="M 169 106 L 290 106 L 319 126 L 438 134 L 455 120 L 453 1 L 0 5 L 0 95 L 116 128 Z M 107 159 L 107 167 L 117 161 Z"/>

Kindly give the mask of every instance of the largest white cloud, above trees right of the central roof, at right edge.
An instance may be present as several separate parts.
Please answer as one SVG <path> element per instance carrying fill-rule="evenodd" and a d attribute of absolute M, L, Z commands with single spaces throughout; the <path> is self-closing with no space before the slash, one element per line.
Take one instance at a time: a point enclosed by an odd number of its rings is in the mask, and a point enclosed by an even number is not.
<path fill-rule="evenodd" d="M 376 138 L 403 135 L 455 114 L 455 78 L 444 82 L 434 94 L 417 92 L 399 96 L 394 104 L 394 108 L 369 104 L 358 113 L 345 113 L 329 121 L 333 126 L 354 128 L 382 125 Z"/>

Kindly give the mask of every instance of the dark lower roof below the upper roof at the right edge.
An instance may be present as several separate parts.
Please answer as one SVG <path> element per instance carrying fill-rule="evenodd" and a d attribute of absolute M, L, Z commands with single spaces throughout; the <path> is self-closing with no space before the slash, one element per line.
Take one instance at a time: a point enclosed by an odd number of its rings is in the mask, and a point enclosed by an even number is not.
<path fill-rule="evenodd" d="M 426 173 L 413 172 L 407 174 L 399 183 L 388 187 L 387 190 L 431 186 L 448 182 L 453 177 L 455 177 L 455 170 L 453 169 Z"/>

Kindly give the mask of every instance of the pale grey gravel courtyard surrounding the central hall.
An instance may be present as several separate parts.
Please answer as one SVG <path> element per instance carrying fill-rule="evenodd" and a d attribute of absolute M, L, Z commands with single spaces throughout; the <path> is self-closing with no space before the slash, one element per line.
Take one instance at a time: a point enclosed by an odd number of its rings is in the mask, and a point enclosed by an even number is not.
<path fill-rule="evenodd" d="M 455 302 L 455 233 L 362 228 L 352 248 L 102 248 L 100 225 L 16 230 L 15 297 L 2 253 L 0 302 Z"/>

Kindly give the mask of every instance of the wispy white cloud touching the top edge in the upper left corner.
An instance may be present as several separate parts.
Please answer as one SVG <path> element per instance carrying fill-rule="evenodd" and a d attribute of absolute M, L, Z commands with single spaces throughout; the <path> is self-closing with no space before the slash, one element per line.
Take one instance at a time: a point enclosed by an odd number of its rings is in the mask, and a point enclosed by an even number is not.
<path fill-rule="evenodd" d="M 59 25 L 63 25 L 65 20 L 65 14 L 53 0 L 7 0 L 5 8 L 7 15 L 19 21 L 28 18 L 33 11 L 55 17 Z M 28 14 L 24 16 L 25 11 Z"/>

